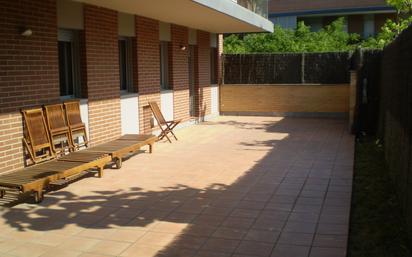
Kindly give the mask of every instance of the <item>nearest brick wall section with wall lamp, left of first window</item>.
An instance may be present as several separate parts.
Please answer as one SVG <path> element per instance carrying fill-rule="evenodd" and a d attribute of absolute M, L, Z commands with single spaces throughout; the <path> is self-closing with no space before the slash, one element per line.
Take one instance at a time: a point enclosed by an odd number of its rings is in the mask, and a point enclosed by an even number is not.
<path fill-rule="evenodd" d="M 20 109 L 58 100 L 56 3 L 0 0 L 0 172 L 23 166 Z M 23 28 L 33 35 L 21 36 Z"/>

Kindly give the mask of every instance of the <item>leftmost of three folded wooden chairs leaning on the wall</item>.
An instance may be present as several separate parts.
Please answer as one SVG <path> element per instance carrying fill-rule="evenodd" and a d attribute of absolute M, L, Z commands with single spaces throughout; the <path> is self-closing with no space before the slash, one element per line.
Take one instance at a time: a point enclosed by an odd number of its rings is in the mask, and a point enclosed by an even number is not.
<path fill-rule="evenodd" d="M 42 108 L 22 110 L 24 118 L 23 144 L 33 163 L 55 158 Z"/>

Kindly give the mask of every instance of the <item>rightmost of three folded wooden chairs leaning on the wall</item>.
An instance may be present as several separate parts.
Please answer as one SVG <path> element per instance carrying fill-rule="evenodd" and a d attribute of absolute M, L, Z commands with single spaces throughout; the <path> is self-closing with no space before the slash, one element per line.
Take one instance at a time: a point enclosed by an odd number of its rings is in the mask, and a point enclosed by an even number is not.
<path fill-rule="evenodd" d="M 87 139 L 86 125 L 82 122 L 80 116 L 80 102 L 64 102 L 64 109 L 66 111 L 67 125 L 70 130 L 71 144 L 74 149 L 79 150 L 83 146 L 87 147 L 89 141 Z M 80 138 L 82 138 L 82 142 L 80 142 Z"/>

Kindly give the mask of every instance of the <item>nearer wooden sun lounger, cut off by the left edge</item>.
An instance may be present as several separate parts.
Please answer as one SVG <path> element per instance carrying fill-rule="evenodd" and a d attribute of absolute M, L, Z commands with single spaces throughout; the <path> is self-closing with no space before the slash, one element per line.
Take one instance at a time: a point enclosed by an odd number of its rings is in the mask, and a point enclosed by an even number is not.
<path fill-rule="evenodd" d="M 6 189 L 14 189 L 21 193 L 33 193 L 36 203 L 39 203 L 43 200 L 43 190 L 49 185 L 67 183 L 92 168 L 97 168 L 101 177 L 104 166 L 111 161 L 111 157 L 106 154 L 88 153 L 81 157 L 72 154 L 66 155 L 64 159 L 0 175 L 0 198 L 4 197 Z"/>

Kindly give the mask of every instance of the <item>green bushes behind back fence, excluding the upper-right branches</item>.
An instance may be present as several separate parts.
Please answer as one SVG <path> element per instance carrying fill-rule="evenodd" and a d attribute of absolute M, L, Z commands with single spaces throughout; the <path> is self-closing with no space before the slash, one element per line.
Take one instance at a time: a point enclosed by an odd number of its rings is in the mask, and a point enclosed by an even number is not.
<path fill-rule="evenodd" d="M 225 53 L 274 53 L 274 52 L 329 52 L 348 51 L 356 47 L 359 35 L 344 30 L 345 20 L 339 18 L 317 32 L 299 22 L 296 30 L 275 26 L 273 33 L 248 34 L 240 38 L 225 38 Z"/>

